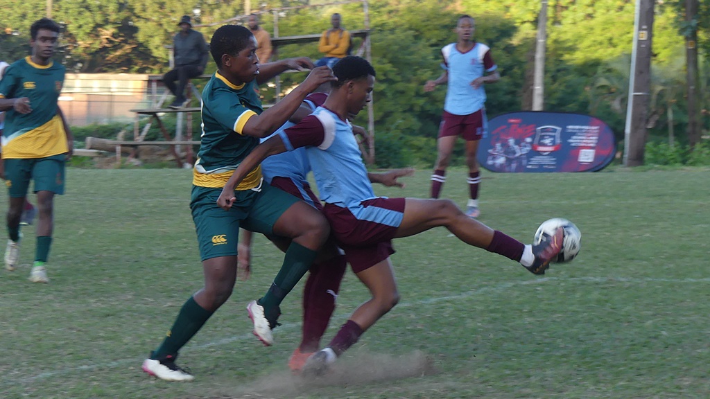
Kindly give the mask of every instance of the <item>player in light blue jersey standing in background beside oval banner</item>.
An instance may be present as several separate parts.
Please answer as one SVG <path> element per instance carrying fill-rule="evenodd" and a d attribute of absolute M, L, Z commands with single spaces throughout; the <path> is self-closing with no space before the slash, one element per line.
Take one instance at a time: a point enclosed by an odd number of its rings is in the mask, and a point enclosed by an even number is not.
<path fill-rule="evenodd" d="M 466 165 L 469 166 L 469 194 L 466 206 L 469 217 L 479 217 L 479 187 L 481 175 L 476 152 L 479 141 L 486 134 L 486 90 L 484 83 L 495 83 L 501 79 L 498 66 L 493 62 L 491 49 L 484 43 L 473 40 L 476 21 L 471 16 L 461 16 L 456 26 L 459 35 L 457 43 L 442 48 L 444 73 L 436 80 L 428 81 L 425 92 L 432 92 L 439 84 L 448 84 L 444 114 L 439 126 L 437 147 L 439 154 L 432 175 L 431 197 L 439 198 L 446 182 L 446 169 L 451 160 L 454 144 L 458 136 L 466 141 Z"/>

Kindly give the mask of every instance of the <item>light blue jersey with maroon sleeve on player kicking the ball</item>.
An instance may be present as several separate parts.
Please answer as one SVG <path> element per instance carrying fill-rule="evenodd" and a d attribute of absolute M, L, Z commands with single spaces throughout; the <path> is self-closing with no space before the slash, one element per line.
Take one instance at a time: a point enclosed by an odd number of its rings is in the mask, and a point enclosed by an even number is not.
<path fill-rule="evenodd" d="M 376 197 L 349 121 L 320 106 L 280 137 L 289 151 L 306 148 L 319 197 L 327 204 L 355 207 Z"/>

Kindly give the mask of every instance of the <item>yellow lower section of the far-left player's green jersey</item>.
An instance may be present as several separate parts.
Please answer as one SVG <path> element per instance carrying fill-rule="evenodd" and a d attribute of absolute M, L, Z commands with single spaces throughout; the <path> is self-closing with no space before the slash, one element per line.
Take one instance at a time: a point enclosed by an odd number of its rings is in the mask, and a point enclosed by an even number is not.
<path fill-rule="evenodd" d="M 4 137 L 2 141 L 2 158 L 6 159 L 45 158 L 69 151 L 67 133 L 59 115 L 42 126 Z"/>

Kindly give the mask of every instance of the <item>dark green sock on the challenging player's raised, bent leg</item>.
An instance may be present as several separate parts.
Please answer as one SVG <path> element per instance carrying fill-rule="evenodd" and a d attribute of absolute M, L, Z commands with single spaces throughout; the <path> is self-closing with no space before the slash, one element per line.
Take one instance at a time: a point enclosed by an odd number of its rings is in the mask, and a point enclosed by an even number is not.
<path fill-rule="evenodd" d="M 283 257 L 283 265 L 278 270 L 276 278 L 273 279 L 271 288 L 258 301 L 259 305 L 264 307 L 267 319 L 274 318 L 273 312 L 278 309 L 278 305 L 281 304 L 283 298 L 293 290 L 298 280 L 305 275 L 313 261 L 315 261 L 316 256 L 316 251 L 312 251 L 293 241 L 291 242 Z"/>

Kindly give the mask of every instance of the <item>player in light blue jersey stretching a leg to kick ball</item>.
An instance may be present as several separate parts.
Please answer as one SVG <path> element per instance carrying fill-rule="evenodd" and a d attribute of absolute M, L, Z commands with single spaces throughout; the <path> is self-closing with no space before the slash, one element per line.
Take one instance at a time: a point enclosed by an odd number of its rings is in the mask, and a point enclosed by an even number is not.
<path fill-rule="evenodd" d="M 357 114 L 371 99 L 375 70 L 359 57 L 346 57 L 334 67 L 337 82 L 328 99 L 299 124 L 253 149 L 224 185 L 217 204 L 230 209 L 234 187 L 268 155 L 305 147 L 331 234 L 337 239 L 353 271 L 370 290 L 371 299 L 360 305 L 329 345 L 311 356 L 305 373 L 322 371 L 352 346 L 399 301 L 391 240 L 445 226 L 461 241 L 498 253 L 534 274 L 544 274 L 562 248 L 562 229 L 548 241 L 524 245 L 501 231 L 467 217 L 450 200 L 377 197 L 371 182 L 398 185 L 402 174 L 368 173 L 346 116 Z"/>

